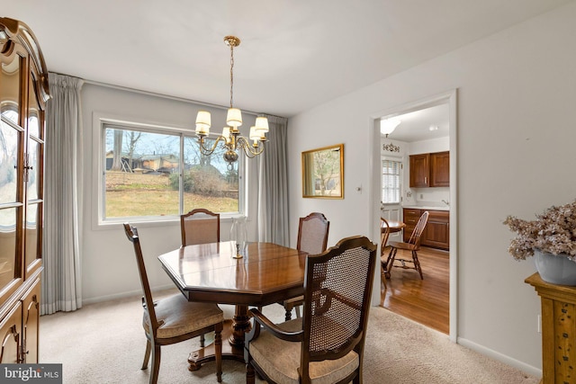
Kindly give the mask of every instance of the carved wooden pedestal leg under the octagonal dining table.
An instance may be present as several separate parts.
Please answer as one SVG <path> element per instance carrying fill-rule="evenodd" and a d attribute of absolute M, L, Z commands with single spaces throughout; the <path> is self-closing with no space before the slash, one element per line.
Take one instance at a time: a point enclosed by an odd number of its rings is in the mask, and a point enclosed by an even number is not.
<path fill-rule="evenodd" d="M 236 306 L 233 319 L 224 320 L 222 340 L 228 339 L 229 343 L 222 343 L 222 360 L 244 362 L 244 335 L 252 329 L 247 311 L 247 306 Z M 212 343 L 190 353 L 188 370 L 197 371 L 204 362 L 213 362 L 215 358 L 214 344 Z"/>

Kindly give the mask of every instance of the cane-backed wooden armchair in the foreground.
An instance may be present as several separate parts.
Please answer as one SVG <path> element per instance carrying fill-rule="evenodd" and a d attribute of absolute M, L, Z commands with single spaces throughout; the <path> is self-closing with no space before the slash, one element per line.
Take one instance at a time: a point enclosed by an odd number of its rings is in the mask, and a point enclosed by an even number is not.
<path fill-rule="evenodd" d="M 347 237 L 308 255 L 302 317 L 274 324 L 257 308 L 247 335 L 247 384 L 362 383 L 377 246 Z"/>

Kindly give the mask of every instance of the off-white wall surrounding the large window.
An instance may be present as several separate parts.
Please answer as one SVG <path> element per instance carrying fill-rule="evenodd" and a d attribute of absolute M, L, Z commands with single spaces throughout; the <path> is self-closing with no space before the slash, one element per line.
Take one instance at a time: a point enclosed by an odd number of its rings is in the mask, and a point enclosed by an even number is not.
<path fill-rule="evenodd" d="M 84 132 L 84 200 L 82 220 L 82 290 L 84 303 L 139 292 L 139 276 L 134 251 L 121 224 L 97 225 L 96 202 L 98 140 L 94 115 L 124 119 L 130 122 L 194 129 L 196 112 L 201 107 L 175 99 L 123 91 L 107 86 L 86 84 L 82 88 Z M 225 111 L 202 106 L 212 114 L 212 124 L 225 121 Z M 254 125 L 256 117 L 243 113 L 242 129 Z M 245 132 L 247 133 L 247 132 Z M 95 138 L 94 138 L 95 136 Z M 248 162 L 250 188 L 256 190 L 256 162 Z M 248 236 L 256 239 L 256 196 L 248 201 Z M 231 219 L 220 220 L 220 238 L 229 239 Z M 155 223 L 134 223 L 139 228 L 142 253 L 148 265 L 148 280 L 154 288 L 174 287 L 160 267 L 157 256 L 181 244 L 179 219 Z"/>

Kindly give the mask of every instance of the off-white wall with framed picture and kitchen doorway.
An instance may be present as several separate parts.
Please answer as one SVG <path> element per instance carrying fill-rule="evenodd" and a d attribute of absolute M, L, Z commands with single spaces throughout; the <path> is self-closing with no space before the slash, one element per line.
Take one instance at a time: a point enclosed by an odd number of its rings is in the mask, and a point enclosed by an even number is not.
<path fill-rule="evenodd" d="M 513 234 L 502 221 L 574 199 L 575 20 L 576 4 L 568 4 L 289 121 L 291 227 L 320 210 L 333 245 L 373 234 L 370 116 L 458 90 L 456 332 L 461 343 L 531 372 L 542 367 L 539 299 L 524 282 L 535 268 L 507 253 Z M 302 199 L 300 153 L 337 143 L 345 145 L 345 199 Z"/>

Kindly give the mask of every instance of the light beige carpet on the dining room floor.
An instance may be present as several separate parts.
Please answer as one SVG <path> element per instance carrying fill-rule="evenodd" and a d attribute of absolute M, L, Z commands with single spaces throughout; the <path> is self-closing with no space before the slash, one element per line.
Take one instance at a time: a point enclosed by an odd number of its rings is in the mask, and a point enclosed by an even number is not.
<path fill-rule="evenodd" d="M 168 293 L 175 291 L 159 292 L 155 298 Z M 231 306 L 221 308 L 232 316 Z M 275 321 L 284 319 L 279 305 L 265 307 L 264 313 Z M 62 363 L 63 381 L 68 384 L 146 384 L 148 370 L 140 370 L 146 347 L 141 318 L 139 296 L 40 317 L 40 362 Z M 217 383 L 213 362 L 188 371 L 188 353 L 198 347 L 198 339 L 162 347 L 158 383 Z M 379 307 L 370 309 L 364 367 L 366 384 L 539 381 Z M 244 364 L 224 361 L 222 370 L 223 383 L 246 382 Z"/>

